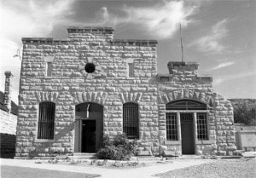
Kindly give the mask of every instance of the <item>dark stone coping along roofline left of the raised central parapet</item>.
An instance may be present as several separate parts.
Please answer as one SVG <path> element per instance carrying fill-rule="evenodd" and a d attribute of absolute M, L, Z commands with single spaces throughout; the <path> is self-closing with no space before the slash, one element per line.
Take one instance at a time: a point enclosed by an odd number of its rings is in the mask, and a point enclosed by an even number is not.
<path fill-rule="evenodd" d="M 22 37 L 23 44 L 67 44 L 69 39 L 56 39 L 53 37 Z"/>

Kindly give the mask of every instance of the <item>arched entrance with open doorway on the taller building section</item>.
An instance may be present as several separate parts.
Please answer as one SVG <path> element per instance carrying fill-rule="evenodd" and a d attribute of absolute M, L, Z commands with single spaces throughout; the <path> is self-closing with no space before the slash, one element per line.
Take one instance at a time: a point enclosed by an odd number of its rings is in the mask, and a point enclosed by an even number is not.
<path fill-rule="evenodd" d="M 76 106 L 74 152 L 97 152 L 102 146 L 103 106 L 86 102 Z"/>

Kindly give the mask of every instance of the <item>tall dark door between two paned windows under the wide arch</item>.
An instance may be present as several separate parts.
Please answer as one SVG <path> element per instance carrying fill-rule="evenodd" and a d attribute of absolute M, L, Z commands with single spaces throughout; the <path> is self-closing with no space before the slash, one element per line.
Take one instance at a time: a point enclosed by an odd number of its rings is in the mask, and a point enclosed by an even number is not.
<path fill-rule="evenodd" d="M 193 113 L 180 113 L 182 153 L 195 154 Z"/>

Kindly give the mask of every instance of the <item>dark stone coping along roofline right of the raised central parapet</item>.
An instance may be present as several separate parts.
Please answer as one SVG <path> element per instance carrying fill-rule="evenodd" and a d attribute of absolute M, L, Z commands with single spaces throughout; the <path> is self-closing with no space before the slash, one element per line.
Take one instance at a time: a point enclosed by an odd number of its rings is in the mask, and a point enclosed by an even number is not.
<path fill-rule="evenodd" d="M 155 47 L 156 40 L 139 40 L 139 39 L 113 39 L 110 43 L 116 46 L 148 46 Z"/>

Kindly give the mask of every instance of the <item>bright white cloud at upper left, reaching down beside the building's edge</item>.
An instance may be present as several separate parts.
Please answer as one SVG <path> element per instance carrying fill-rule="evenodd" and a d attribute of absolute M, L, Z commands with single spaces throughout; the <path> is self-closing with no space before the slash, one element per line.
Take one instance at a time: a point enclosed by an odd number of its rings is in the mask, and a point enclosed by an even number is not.
<path fill-rule="evenodd" d="M 11 71 L 13 78 L 13 100 L 17 102 L 20 81 L 20 60 L 14 59 L 17 49 L 21 49 L 21 37 L 47 37 L 57 24 L 66 24 L 73 14 L 75 0 L 9 0 L 1 2 L 0 16 L 0 78 L 4 87 L 3 72 Z"/>

